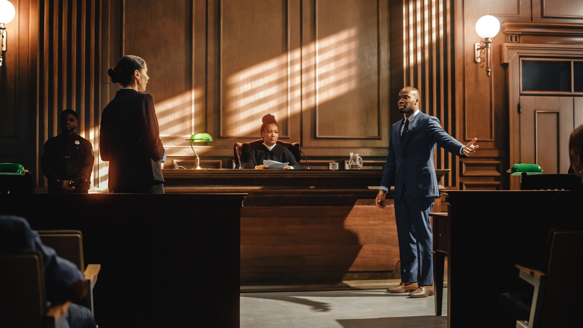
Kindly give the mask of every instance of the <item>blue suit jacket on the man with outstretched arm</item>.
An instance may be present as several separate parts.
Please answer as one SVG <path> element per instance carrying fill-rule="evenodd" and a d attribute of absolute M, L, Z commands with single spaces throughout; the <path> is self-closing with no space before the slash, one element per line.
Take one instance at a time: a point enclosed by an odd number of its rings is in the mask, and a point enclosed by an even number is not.
<path fill-rule="evenodd" d="M 401 145 L 401 124 L 391 127 L 389 155 L 382 174 L 381 186 L 395 186 L 395 199 L 401 198 L 403 187 L 412 198 L 439 197 L 433 152 L 438 144 L 446 151 L 459 153 L 462 143 L 447 134 L 437 117 L 419 113 L 409 126 Z"/>

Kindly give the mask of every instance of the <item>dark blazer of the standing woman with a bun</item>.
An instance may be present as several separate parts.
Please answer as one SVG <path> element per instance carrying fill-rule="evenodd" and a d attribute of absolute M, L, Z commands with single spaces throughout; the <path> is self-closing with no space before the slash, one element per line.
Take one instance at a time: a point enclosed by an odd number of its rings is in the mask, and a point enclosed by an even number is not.
<path fill-rule="evenodd" d="M 164 182 L 159 162 L 164 148 L 152 96 L 134 89 L 115 94 L 101 114 L 99 152 L 110 162 L 110 191 Z"/>

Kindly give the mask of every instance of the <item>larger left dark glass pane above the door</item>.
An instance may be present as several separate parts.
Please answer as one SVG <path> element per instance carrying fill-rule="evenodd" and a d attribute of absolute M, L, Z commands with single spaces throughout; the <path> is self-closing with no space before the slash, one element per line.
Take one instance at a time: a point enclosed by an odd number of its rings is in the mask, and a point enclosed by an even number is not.
<path fill-rule="evenodd" d="M 522 61 L 522 90 L 571 92 L 571 62 Z"/>

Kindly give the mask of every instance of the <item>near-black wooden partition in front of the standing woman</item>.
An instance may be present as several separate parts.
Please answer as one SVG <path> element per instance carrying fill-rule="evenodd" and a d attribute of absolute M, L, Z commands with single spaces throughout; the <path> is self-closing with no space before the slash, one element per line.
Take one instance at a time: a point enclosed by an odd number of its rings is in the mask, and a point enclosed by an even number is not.
<path fill-rule="evenodd" d="M 104 327 L 238 327 L 245 194 L 0 194 L 0 214 L 83 233 Z"/>

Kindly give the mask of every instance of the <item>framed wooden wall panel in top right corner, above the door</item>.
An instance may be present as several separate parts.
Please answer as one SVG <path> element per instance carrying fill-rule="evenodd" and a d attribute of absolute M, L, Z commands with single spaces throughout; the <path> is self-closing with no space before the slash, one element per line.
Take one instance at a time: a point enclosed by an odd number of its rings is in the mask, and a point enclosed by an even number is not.
<path fill-rule="evenodd" d="M 532 0 L 532 21 L 583 23 L 583 6 L 578 0 Z"/>

